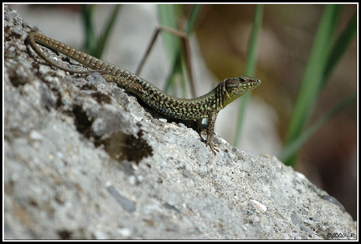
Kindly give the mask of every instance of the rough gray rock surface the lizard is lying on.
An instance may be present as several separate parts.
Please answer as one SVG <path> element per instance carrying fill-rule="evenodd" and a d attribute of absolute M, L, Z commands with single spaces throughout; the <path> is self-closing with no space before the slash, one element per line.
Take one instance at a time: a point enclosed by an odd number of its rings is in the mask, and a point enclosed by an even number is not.
<path fill-rule="evenodd" d="M 4 239 L 357 238 L 342 205 L 276 157 L 217 134 L 214 156 L 195 122 L 46 65 L 30 29 L 5 6 Z"/>

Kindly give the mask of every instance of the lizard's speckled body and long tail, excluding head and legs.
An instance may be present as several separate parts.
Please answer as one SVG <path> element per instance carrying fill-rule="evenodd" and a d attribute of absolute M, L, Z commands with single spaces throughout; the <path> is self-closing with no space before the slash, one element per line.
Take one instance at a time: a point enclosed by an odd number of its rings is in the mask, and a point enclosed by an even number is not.
<path fill-rule="evenodd" d="M 138 77 L 137 75 L 117 67 L 106 61 L 97 59 L 89 54 L 78 51 L 75 48 L 70 47 L 60 41 L 51 39 L 40 33 L 31 32 L 28 35 L 29 44 L 34 51 L 45 61 L 49 62 L 53 66 L 63 69 L 65 71 L 73 73 L 89 73 L 90 71 L 74 71 L 51 61 L 35 44 L 36 42 L 49 47 L 65 56 L 85 65 L 88 68 L 94 69 L 94 71 L 104 71 L 105 73 L 117 77 L 113 79 L 114 82 L 124 87 L 127 91 L 140 98 L 143 102 L 148 104 L 154 110 L 165 114 L 167 116 L 183 119 L 183 120 L 196 120 L 202 118 L 208 118 L 210 113 L 214 110 L 220 110 L 220 99 L 217 94 L 220 94 L 220 85 L 214 88 L 209 93 L 193 98 L 182 99 L 176 98 L 164 93 L 162 90 L 154 86 L 152 83 Z M 139 84 L 141 89 L 132 89 L 131 84 Z M 128 89 L 127 89 L 128 88 Z"/>

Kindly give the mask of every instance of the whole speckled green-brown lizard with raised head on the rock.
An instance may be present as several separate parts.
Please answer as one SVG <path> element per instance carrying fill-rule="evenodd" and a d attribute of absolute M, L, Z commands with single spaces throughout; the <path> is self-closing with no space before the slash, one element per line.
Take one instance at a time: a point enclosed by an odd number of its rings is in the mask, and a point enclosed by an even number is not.
<path fill-rule="evenodd" d="M 247 91 L 261 84 L 259 79 L 240 76 L 221 81 L 213 90 L 203 96 L 192 99 L 176 98 L 164 93 L 152 83 L 123 68 L 78 51 L 38 32 L 30 32 L 27 40 L 38 56 L 52 66 L 71 74 L 84 74 L 95 71 L 102 73 L 101 76 L 105 81 L 114 82 L 118 86 L 123 87 L 127 92 L 133 94 L 161 114 L 181 120 L 196 120 L 198 124 L 201 124 L 202 119 L 208 118 L 206 146 L 209 146 L 214 155 L 216 155 L 216 152 L 219 152 L 219 150 L 215 148 L 216 144 L 212 142 L 214 123 L 217 119 L 218 112 L 230 102 L 233 102 Z M 50 60 L 36 43 L 62 53 L 92 70 L 76 71 L 63 67 Z"/>

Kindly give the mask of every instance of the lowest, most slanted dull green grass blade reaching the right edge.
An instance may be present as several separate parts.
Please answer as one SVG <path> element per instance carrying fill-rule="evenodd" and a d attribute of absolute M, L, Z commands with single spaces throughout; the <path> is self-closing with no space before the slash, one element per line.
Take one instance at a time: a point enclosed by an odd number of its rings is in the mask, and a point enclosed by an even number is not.
<path fill-rule="evenodd" d="M 292 155 L 297 153 L 300 150 L 300 148 L 304 145 L 304 143 L 311 136 L 313 136 L 323 126 L 324 123 L 329 121 L 333 116 L 335 116 L 337 113 L 342 111 L 345 107 L 350 105 L 352 102 L 355 102 L 356 99 L 357 99 L 357 93 L 355 92 L 351 96 L 342 100 L 339 104 L 334 106 L 328 112 L 323 114 L 323 116 L 320 119 L 318 119 L 316 122 L 314 122 L 312 124 L 312 126 L 307 128 L 306 130 L 304 130 L 304 132 L 299 137 L 297 137 L 293 141 L 289 142 L 283 149 L 282 153 L 278 156 L 278 159 L 282 162 L 285 162 L 289 158 L 291 158 Z"/>

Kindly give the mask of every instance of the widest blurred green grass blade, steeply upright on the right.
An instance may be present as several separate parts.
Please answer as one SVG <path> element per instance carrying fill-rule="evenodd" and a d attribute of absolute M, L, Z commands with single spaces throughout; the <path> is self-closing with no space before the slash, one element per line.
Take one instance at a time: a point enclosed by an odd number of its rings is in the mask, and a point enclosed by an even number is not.
<path fill-rule="evenodd" d="M 325 5 L 315 41 L 304 70 L 293 113 L 288 124 L 285 144 L 293 141 L 300 135 L 314 110 L 319 87 L 321 87 L 323 70 L 329 58 L 332 37 L 336 29 L 340 8 L 341 5 Z M 294 165 L 296 158 L 297 156 L 293 155 L 284 163 Z"/>

